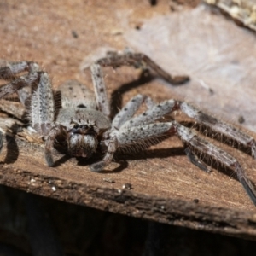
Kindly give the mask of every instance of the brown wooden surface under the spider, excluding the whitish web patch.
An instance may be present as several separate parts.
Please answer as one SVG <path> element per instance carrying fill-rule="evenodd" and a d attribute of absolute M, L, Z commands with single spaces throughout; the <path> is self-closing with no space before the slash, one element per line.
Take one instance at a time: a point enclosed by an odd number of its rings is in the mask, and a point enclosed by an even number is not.
<path fill-rule="evenodd" d="M 67 79 L 90 84 L 88 73 L 80 70 L 88 55 L 102 47 L 129 46 L 123 37 L 126 29 L 169 14 L 165 1 L 155 7 L 147 1 L 2 2 L 1 58 L 38 61 L 55 88 Z M 171 90 L 159 80 L 137 86 L 139 73 L 131 68 L 116 72 L 107 68 L 104 73 L 109 94 L 119 91 L 115 95 L 124 102 L 137 93 L 147 93 L 156 101 L 178 95 L 177 88 Z M 183 115 L 177 119 L 187 120 Z M 11 125 L 12 120 L 3 116 L 1 123 Z M 44 144 L 22 133 L 7 139 L 0 155 L 0 183 L 6 186 L 137 218 L 256 238 L 255 207 L 234 175 L 215 169 L 202 172 L 189 162 L 177 137 L 143 153 L 119 154 L 102 173 L 88 168 L 98 156 L 76 160 L 55 155 L 56 166 L 49 168 Z M 237 157 L 255 183 L 255 161 L 235 148 L 223 147 Z M 124 189 L 127 183 L 131 189 Z"/>

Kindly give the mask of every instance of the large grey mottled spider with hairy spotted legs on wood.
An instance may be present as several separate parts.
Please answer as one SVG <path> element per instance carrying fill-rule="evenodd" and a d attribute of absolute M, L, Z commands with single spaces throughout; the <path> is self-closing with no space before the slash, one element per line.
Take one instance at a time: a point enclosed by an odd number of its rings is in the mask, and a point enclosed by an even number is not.
<path fill-rule="evenodd" d="M 17 91 L 20 102 L 25 105 L 29 102 L 31 125 L 39 135 L 45 137 L 45 159 L 48 166 L 54 166 L 52 150 L 55 146 L 61 145 L 67 149 L 68 154 L 76 157 L 90 157 L 96 152 L 96 148 L 102 148 L 105 152 L 103 159 L 90 166 L 91 171 L 100 172 L 113 160 L 113 154 L 119 148 L 136 144 L 148 145 L 157 137 L 177 135 L 188 147 L 185 152 L 196 166 L 205 169 L 204 164 L 197 160 L 191 150 L 207 154 L 211 159 L 234 170 L 238 180 L 256 205 L 253 184 L 233 156 L 202 139 L 195 131 L 177 121 L 160 122 L 159 120 L 168 113 L 181 110 L 195 119 L 195 122 L 251 148 L 253 158 L 256 158 L 256 143 L 253 137 L 202 113 L 186 102 L 171 99 L 154 104 L 149 97 L 143 95 L 134 96 L 111 121 L 102 67 L 122 65 L 149 67 L 172 84 L 188 79 L 188 77 L 172 77 L 143 54 L 131 52 L 112 54 L 96 61 L 90 67 L 95 95 L 77 82 L 63 84 L 60 88 L 61 108 L 55 109 L 54 93 L 48 74 L 40 71 L 37 63 L 22 61 L 8 63 L 0 68 L 0 79 L 10 80 L 9 84 L 4 84 L 0 88 L 0 98 Z M 27 73 L 17 76 L 22 72 Z M 27 88 L 31 89 L 30 94 L 26 93 Z M 76 91 L 76 96 L 80 97 L 75 98 L 72 95 L 73 90 Z M 143 102 L 148 109 L 136 115 Z M 1 143 L 2 141 L 3 135 Z"/>

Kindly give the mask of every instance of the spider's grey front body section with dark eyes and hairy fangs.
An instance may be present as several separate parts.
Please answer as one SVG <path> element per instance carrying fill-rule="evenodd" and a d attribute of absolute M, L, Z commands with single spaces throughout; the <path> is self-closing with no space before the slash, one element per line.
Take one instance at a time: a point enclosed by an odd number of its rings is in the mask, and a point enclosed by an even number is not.
<path fill-rule="evenodd" d="M 56 123 L 61 129 L 55 141 L 66 144 L 69 154 L 82 157 L 90 157 L 96 152 L 98 137 L 111 127 L 110 120 L 101 112 L 79 107 L 60 109 Z"/>

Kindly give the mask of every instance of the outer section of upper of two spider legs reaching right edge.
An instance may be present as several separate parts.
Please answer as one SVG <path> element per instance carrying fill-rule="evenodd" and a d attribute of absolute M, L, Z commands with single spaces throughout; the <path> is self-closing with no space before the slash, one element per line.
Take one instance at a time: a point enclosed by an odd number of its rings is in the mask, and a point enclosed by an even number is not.
<path fill-rule="evenodd" d="M 225 137 L 229 137 L 245 147 L 251 148 L 253 158 L 256 159 L 256 142 L 253 137 L 250 137 L 232 125 L 226 124 L 216 118 L 213 118 L 207 113 L 202 113 L 199 109 L 189 105 L 186 102 L 180 102 L 179 108 L 190 118 L 195 119 L 197 123 L 205 125 L 212 129 L 212 131 L 216 131 Z"/>

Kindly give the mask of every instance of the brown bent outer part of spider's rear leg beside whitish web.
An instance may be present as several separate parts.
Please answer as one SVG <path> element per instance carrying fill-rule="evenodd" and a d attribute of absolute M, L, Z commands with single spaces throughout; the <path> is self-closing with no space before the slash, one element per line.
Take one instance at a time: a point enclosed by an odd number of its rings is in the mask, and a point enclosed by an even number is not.
<path fill-rule="evenodd" d="M 120 67 L 120 66 L 133 66 L 133 67 L 149 67 L 158 76 L 165 79 L 171 84 L 183 84 L 189 81 L 188 76 L 172 76 L 152 61 L 147 55 L 142 53 L 133 53 L 131 51 L 125 51 L 122 54 L 112 53 L 105 58 L 96 61 L 96 64 L 102 67 Z"/>

